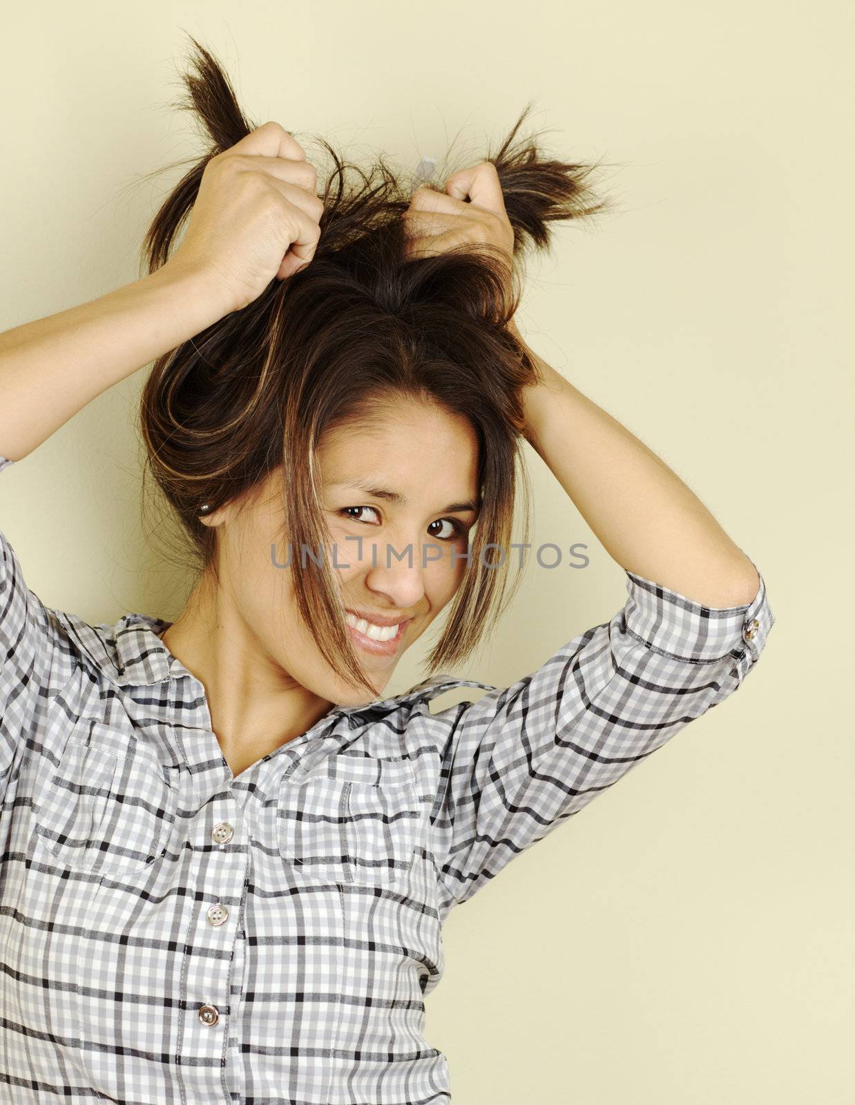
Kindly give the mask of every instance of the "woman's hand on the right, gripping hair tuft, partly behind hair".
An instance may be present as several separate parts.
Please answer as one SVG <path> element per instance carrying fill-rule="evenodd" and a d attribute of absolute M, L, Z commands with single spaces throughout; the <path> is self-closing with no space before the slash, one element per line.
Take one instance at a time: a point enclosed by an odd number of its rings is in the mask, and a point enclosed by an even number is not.
<path fill-rule="evenodd" d="M 513 271 L 514 228 L 492 161 L 455 172 L 445 181 L 445 192 L 416 188 L 401 218 L 407 229 L 408 257 L 433 256 L 466 243 L 487 243 L 499 248 Z"/>

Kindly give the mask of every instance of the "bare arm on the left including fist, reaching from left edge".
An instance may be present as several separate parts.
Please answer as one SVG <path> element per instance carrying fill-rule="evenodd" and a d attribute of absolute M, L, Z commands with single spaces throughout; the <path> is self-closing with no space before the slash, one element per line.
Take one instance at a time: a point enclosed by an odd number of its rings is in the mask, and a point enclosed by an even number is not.
<path fill-rule="evenodd" d="M 181 245 L 149 276 L 0 334 L 0 456 L 18 461 L 92 399 L 314 256 L 324 202 L 278 123 L 205 165 Z"/>

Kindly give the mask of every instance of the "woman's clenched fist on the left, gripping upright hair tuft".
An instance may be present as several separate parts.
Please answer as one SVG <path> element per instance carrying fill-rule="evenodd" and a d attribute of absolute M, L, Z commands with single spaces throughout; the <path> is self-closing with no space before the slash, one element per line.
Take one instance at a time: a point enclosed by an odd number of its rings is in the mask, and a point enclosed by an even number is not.
<path fill-rule="evenodd" d="M 205 274 L 224 314 L 240 311 L 315 255 L 324 213 L 316 182 L 299 143 L 265 123 L 205 165 L 183 240 L 163 267 Z"/>

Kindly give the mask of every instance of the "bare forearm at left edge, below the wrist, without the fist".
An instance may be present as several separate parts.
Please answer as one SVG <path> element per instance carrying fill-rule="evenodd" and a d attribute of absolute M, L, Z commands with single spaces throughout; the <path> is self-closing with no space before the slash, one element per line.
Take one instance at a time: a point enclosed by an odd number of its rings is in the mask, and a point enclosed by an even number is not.
<path fill-rule="evenodd" d="M 223 314 L 204 276 L 167 264 L 0 334 L 0 455 L 21 460 L 96 396 Z"/>

